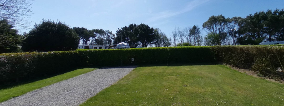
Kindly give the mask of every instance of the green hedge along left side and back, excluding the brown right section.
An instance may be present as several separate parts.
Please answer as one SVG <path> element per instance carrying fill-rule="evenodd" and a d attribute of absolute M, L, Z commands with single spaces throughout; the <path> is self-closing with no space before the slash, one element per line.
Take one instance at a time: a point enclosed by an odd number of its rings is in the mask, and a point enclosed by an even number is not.
<path fill-rule="evenodd" d="M 210 63 L 215 60 L 208 46 L 6 53 L 0 54 L 0 82 L 32 79 L 79 66 L 119 66 L 121 62 L 123 65 Z"/>

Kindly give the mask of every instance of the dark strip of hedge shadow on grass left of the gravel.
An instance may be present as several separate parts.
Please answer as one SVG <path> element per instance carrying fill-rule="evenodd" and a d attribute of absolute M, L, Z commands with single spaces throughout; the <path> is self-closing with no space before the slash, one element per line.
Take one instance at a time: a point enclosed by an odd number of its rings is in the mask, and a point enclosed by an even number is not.
<path fill-rule="evenodd" d="M 11 88 L 11 87 L 14 87 L 14 86 L 23 85 L 23 84 L 36 82 L 36 81 L 47 79 L 47 78 L 51 78 L 51 77 L 54 77 L 54 76 L 57 76 L 57 75 L 60 75 L 60 74 L 64 74 L 66 72 L 70 72 L 70 71 L 77 70 L 77 69 L 82 69 L 82 68 L 101 68 L 101 67 L 100 66 L 85 66 L 85 67 L 82 66 L 82 67 L 66 69 L 64 71 L 60 71 L 60 72 L 52 74 L 52 75 L 41 76 L 41 77 L 38 77 L 38 78 L 32 78 L 32 79 L 27 79 L 27 80 L 20 80 L 18 82 L 6 82 L 4 84 L 0 84 L 0 90 Z"/>

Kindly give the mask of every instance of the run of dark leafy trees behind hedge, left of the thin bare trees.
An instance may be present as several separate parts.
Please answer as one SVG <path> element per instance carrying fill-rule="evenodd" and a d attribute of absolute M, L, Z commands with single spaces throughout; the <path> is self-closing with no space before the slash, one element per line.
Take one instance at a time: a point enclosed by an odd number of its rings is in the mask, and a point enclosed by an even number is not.
<path fill-rule="evenodd" d="M 103 29 L 88 30 L 84 27 L 70 28 L 63 22 L 45 20 L 36 24 L 30 32 L 19 35 L 13 25 L 7 20 L 0 21 L 1 53 L 16 51 L 67 51 L 75 50 L 78 44 L 89 45 L 116 45 L 126 42 L 131 47 L 170 46 L 170 40 L 158 28 L 146 24 L 130 24 L 122 27 L 113 34 L 112 31 Z M 4 38 L 6 37 L 6 38 Z M 21 47 L 21 49 L 20 49 Z"/>

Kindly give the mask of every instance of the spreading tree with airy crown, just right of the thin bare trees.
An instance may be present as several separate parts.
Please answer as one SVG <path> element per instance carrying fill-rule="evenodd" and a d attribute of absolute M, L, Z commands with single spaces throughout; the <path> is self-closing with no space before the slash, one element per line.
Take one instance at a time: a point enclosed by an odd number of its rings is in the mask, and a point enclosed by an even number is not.
<path fill-rule="evenodd" d="M 214 40 L 214 41 L 209 41 L 209 42 L 215 42 L 211 43 L 214 45 L 215 44 L 221 45 L 222 43 L 224 43 L 224 40 L 227 38 L 228 21 L 229 19 L 228 18 L 226 19 L 222 15 L 210 16 L 209 19 L 202 24 L 203 29 L 206 29 L 208 33 L 208 37 L 206 37 L 205 40 Z"/>

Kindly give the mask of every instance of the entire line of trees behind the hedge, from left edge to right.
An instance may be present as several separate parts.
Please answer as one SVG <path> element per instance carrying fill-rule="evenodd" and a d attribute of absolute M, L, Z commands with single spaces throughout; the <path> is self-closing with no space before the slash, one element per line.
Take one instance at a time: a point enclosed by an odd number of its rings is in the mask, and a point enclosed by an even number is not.
<path fill-rule="evenodd" d="M 116 45 L 126 42 L 131 47 L 168 47 L 201 45 L 257 45 L 262 41 L 284 41 L 284 9 L 260 11 L 245 18 L 225 18 L 222 14 L 210 16 L 201 28 L 195 25 L 175 28 L 167 37 L 159 28 L 147 24 L 130 24 L 109 30 L 84 27 L 70 28 L 60 21 L 43 20 L 30 32 L 18 34 L 18 28 L 27 28 L 32 13 L 30 0 L 0 1 L 0 53 L 20 51 L 75 50 L 78 44 Z"/>

